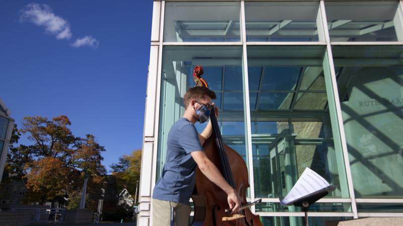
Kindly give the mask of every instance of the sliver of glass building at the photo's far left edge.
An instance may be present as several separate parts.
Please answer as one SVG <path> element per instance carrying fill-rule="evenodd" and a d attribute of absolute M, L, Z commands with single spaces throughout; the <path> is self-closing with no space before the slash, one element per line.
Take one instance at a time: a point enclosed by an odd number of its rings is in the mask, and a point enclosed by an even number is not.
<path fill-rule="evenodd" d="M 14 119 L 10 118 L 10 114 L 11 111 L 0 98 L 0 175 L 3 175 L 14 127 Z M 0 178 L 1 180 L 2 178 Z"/>

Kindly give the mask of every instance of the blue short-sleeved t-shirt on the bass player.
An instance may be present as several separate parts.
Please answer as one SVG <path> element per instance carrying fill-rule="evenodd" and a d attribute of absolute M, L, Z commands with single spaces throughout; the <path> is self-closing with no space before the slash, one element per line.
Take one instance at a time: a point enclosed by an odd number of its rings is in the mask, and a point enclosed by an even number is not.
<path fill-rule="evenodd" d="M 181 118 L 172 126 L 167 140 L 167 156 L 153 198 L 189 204 L 192 195 L 196 163 L 190 153 L 203 151 L 192 123 Z"/>

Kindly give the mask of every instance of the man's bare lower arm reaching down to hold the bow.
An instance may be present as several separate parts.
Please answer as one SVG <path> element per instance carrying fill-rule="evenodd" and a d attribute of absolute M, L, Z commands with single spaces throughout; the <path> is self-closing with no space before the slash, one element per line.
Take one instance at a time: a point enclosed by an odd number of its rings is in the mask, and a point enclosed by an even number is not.
<path fill-rule="evenodd" d="M 232 211 L 238 211 L 240 207 L 241 200 L 236 194 L 234 188 L 231 187 L 221 175 L 220 171 L 217 169 L 216 165 L 207 157 L 204 151 L 196 151 L 190 153 L 194 161 L 196 162 L 200 171 L 214 184 L 219 186 L 228 195 L 228 205 Z"/>

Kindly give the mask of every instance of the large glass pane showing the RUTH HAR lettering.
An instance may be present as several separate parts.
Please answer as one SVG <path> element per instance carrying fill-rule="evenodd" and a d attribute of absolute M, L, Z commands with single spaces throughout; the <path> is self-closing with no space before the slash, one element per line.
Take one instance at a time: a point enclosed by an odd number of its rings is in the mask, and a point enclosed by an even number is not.
<path fill-rule="evenodd" d="M 402 198 L 403 47 L 332 50 L 356 197 Z"/>

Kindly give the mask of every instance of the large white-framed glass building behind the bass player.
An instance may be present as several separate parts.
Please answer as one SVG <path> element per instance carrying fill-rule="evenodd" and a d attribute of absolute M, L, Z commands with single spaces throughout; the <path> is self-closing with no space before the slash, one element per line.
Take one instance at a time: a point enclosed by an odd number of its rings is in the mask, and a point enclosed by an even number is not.
<path fill-rule="evenodd" d="M 403 216 L 403 1 L 154 1 L 152 26 L 138 225 L 195 65 L 263 225 L 303 225 L 279 197 L 306 167 L 337 186 L 311 225 Z"/>

